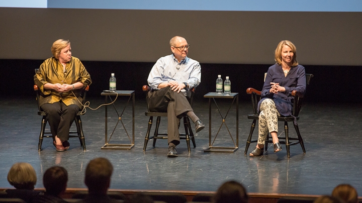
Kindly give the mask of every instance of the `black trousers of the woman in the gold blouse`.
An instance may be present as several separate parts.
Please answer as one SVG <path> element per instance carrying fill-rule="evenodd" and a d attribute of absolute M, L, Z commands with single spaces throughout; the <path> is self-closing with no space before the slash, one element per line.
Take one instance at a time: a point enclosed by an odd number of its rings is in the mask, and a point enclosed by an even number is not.
<path fill-rule="evenodd" d="M 66 106 L 60 100 L 53 104 L 44 104 L 41 109 L 46 114 L 53 140 L 55 140 L 55 136 L 62 141 L 68 140 L 69 129 L 79 112 L 79 107 L 76 105 Z"/>

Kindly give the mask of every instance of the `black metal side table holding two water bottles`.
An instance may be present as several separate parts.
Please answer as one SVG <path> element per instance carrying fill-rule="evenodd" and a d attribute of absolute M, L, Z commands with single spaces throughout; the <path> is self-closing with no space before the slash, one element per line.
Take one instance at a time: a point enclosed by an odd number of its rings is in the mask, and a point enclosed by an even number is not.
<path fill-rule="evenodd" d="M 209 147 L 204 149 L 204 152 L 235 152 L 239 148 L 239 93 L 230 93 L 230 95 L 225 95 L 224 93 L 218 94 L 216 92 L 209 92 L 209 93 L 205 94 L 204 97 L 209 98 Z M 217 105 L 215 98 L 232 98 L 233 99 L 225 117 L 221 114 L 219 106 Z M 212 139 L 212 135 L 211 135 L 211 99 L 214 100 L 216 108 L 218 109 L 218 112 L 222 118 L 222 123 L 220 125 L 220 128 L 219 128 L 217 134 L 215 135 L 213 142 L 211 142 L 211 139 Z M 229 114 L 229 111 L 230 111 L 231 107 L 233 106 L 235 100 L 236 100 L 236 105 L 235 105 L 236 106 L 236 143 L 235 143 L 234 138 L 231 135 L 230 130 L 227 127 L 226 122 L 225 122 L 226 117 Z M 234 143 L 234 146 L 232 146 L 232 147 L 213 146 L 217 136 L 219 135 L 220 129 L 223 125 L 225 125 L 225 127 L 230 135 L 230 138 Z"/>

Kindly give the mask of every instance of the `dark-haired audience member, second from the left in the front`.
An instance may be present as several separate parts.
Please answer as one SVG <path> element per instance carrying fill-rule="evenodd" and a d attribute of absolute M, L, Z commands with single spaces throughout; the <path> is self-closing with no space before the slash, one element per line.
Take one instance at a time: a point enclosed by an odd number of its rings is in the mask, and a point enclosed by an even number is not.
<path fill-rule="evenodd" d="M 48 168 L 43 176 L 45 193 L 30 199 L 34 203 L 66 203 L 60 195 L 65 192 L 68 181 L 68 173 L 65 168 L 53 166 Z"/>

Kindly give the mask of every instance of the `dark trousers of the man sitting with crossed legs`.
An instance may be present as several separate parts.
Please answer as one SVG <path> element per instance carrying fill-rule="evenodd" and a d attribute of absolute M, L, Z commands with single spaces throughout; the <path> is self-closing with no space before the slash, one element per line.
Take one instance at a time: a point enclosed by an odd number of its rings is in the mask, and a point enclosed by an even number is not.
<path fill-rule="evenodd" d="M 174 92 L 169 86 L 148 92 L 149 111 L 167 112 L 168 143 L 179 144 L 178 127 L 184 113 L 194 111 L 187 97 L 182 92 Z"/>

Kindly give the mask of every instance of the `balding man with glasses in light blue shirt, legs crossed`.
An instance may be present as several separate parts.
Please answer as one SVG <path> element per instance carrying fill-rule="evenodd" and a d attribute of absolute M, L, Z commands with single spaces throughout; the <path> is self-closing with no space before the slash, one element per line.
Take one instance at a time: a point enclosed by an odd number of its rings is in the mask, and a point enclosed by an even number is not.
<path fill-rule="evenodd" d="M 187 57 L 190 44 L 185 38 L 175 36 L 169 44 L 172 54 L 158 59 L 148 75 L 147 82 L 152 89 L 148 98 L 150 111 L 167 112 L 167 157 L 177 157 L 180 118 L 189 116 L 195 123 L 196 133 L 205 128 L 187 99 L 191 96 L 190 90 L 201 82 L 201 66 Z"/>

